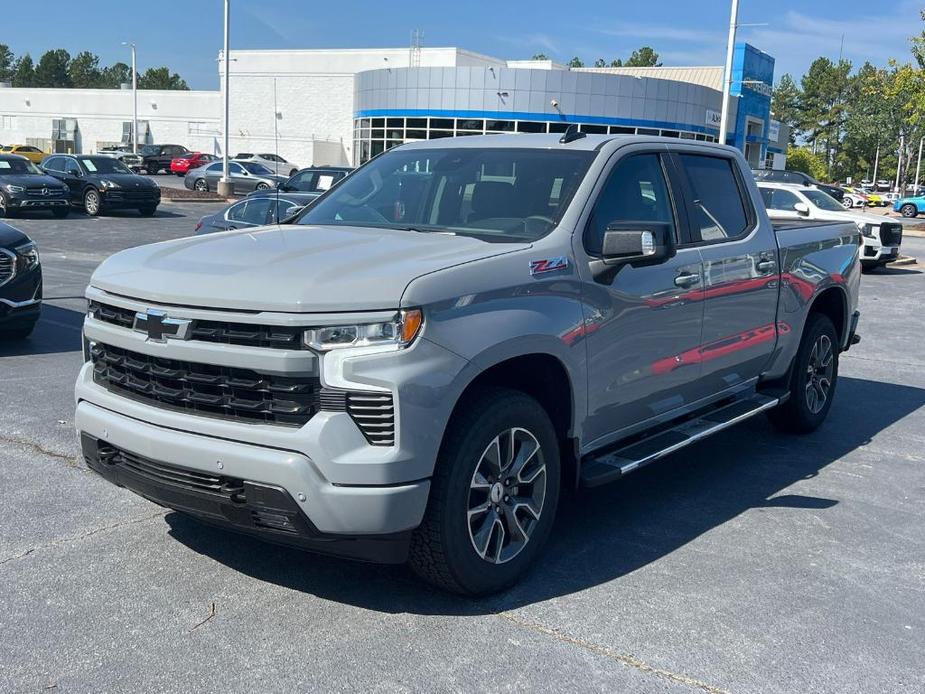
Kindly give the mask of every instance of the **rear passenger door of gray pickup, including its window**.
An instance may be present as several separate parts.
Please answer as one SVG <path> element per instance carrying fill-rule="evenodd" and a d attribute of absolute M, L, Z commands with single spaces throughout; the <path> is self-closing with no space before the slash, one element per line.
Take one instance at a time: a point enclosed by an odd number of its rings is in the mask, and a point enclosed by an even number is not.
<path fill-rule="evenodd" d="M 692 242 L 703 258 L 698 358 L 707 389 L 718 393 L 756 379 L 776 345 L 777 239 L 752 204 L 733 154 L 682 149 L 674 156 L 684 174 Z"/>

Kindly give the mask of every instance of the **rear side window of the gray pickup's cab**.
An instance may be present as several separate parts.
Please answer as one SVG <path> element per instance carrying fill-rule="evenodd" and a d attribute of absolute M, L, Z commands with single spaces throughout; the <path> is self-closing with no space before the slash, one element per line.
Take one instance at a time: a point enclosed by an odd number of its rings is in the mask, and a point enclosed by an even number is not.
<path fill-rule="evenodd" d="M 749 212 L 732 159 L 700 154 L 681 154 L 679 159 L 694 194 L 694 241 L 742 236 L 749 227 Z"/>

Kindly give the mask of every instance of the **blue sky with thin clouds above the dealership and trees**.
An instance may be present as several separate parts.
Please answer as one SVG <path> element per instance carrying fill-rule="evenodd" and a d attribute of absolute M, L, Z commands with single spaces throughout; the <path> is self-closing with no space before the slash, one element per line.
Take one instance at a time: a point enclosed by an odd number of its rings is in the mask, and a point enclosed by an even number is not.
<path fill-rule="evenodd" d="M 39 0 L 5 2 L 0 43 L 34 59 L 51 48 L 90 50 L 103 64 L 129 62 L 122 41 L 138 47 L 138 67 L 167 65 L 193 89 L 216 89 L 222 0 Z M 740 0 L 739 38 L 775 57 L 775 74 L 802 75 L 826 55 L 860 65 L 909 59 L 908 38 L 925 28 L 921 0 Z M 587 64 L 626 58 L 652 46 L 666 65 L 722 65 L 728 0 L 466 0 L 466 2 L 317 2 L 231 0 L 234 48 L 458 46 L 498 58 L 545 53 Z M 844 37 L 844 43 L 842 44 Z"/>

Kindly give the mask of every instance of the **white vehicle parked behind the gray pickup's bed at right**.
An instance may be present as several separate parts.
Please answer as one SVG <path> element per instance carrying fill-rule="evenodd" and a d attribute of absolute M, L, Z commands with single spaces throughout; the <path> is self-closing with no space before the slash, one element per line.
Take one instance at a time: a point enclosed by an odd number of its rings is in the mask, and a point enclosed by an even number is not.
<path fill-rule="evenodd" d="M 758 189 L 772 220 L 852 222 L 861 232 L 861 266 L 883 267 L 899 258 L 903 225 L 888 217 L 849 212 L 817 188 L 787 183 L 759 183 Z M 847 198 L 846 198 L 847 199 Z"/>

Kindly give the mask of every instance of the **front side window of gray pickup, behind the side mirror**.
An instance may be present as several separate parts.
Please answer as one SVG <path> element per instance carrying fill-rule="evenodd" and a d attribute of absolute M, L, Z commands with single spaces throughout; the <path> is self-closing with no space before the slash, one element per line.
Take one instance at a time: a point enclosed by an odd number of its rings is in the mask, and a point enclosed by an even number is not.
<path fill-rule="evenodd" d="M 585 229 L 585 250 L 600 255 L 607 227 L 627 222 L 669 224 L 674 234 L 674 211 L 657 154 L 626 157 L 610 172 Z"/>

